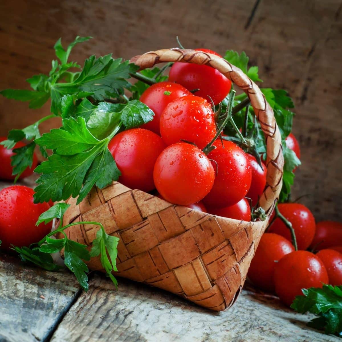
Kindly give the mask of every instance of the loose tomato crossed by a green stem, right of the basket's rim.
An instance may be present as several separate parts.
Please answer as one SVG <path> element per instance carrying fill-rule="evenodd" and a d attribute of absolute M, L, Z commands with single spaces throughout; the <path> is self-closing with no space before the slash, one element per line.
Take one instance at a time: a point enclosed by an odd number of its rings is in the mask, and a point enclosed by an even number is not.
<path fill-rule="evenodd" d="M 315 218 L 312 212 L 299 203 L 280 203 L 278 204 L 278 209 L 292 223 L 297 238 L 298 249 L 308 248 L 316 231 Z M 272 221 L 273 217 L 274 212 L 270 221 Z M 279 234 L 291 241 L 290 230 L 279 218 L 269 227 L 268 232 Z"/>

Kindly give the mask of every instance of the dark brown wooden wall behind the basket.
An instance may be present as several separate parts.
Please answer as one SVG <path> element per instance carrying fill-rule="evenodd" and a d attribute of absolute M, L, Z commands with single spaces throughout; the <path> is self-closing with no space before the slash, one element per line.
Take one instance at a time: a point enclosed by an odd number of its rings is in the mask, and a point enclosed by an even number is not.
<path fill-rule="evenodd" d="M 0 1 L 0 89 L 27 88 L 26 78 L 47 73 L 59 37 L 94 37 L 71 55 L 81 64 L 90 54 L 174 47 L 176 35 L 185 47 L 245 50 L 263 87 L 287 89 L 296 104 L 303 165 L 293 199 L 308 194 L 301 201 L 317 220 L 341 220 L 341 8 L 340 0 Z M 29 110 L 0 98 L 0 134 L 48 113 L 49 105 Z"/>

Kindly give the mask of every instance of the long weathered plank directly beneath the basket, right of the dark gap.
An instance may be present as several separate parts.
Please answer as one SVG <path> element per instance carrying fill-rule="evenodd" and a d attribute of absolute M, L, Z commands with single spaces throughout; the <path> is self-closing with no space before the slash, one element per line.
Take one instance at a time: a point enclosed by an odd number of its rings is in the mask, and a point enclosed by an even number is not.
<path fill-rule="evenodd" d="M 307 328 L 310 315 L 248 290 L 227 312 L 213 313 L 121 278 L 117 292 L 104 276 L 90 284 L 51 341 L 339 341 Z"/>

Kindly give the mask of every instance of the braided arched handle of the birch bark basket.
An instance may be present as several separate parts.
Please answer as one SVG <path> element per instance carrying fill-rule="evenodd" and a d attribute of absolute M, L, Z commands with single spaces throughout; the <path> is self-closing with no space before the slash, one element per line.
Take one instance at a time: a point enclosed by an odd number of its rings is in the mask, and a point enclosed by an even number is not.
<path fill-rule="evenodd" d="M 220 73 L 247 94 L 266 139 L 266 187 L 259 199 L 259 206 L 265 210 L 268 216 L 271 215 L 282 186 L 284 157 L 282 154 L 281 135 L 274 118 L 273 109 L 267 103 L 264 94 L 257 84 L 241 69 L 228 63 L 224 58 L 202 51 L 178 48 L 163 49 L 135 56 L 131 58 L 130 62 L 138 65 L 141 70 L 164 62 L 187 62 L 209 65 L 220 71 Z"/>

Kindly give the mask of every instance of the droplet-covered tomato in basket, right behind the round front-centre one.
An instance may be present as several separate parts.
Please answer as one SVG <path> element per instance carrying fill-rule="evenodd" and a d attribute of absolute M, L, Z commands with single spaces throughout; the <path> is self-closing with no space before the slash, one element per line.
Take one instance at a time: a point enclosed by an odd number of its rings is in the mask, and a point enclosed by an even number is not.
<path fill-rule="evenodd" d="M 252 171 L 246 153 L 231 141 L 215 141 L 208 154 L 216 171 L 214 186 L 203 199 L 208 208 L 232 206 L 244 198 L 251 186 Z"/>

